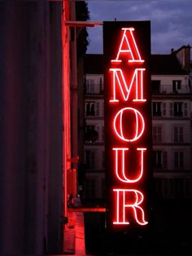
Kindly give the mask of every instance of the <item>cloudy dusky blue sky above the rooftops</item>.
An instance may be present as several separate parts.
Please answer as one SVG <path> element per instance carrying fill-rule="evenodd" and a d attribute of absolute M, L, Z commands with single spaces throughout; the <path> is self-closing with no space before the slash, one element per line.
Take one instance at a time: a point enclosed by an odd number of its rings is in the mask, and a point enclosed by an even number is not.
<path fill-rule="evenodd" d="M 90 20 L 151 20 L 151 53 L 192 46 L 191 0 L 88 0 Z M 102 26 L 89 29 L 87 53 L 103 53 Z"/>

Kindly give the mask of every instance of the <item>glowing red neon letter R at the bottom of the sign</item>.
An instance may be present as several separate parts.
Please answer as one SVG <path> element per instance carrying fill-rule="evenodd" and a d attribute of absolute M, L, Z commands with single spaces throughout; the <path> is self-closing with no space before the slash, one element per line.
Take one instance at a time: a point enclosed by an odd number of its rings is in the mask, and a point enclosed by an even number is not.
<path fill-rule="evenodd" d="M 129 210 L 139 225 L 146 225 L 145 213 L 142 209 L 143 194 L 136 189 L 113 189 L 116 192 L 116 218 L 114 225 L 129 225 Z M 129 215 L 129 216 L 128 216 Z"/>

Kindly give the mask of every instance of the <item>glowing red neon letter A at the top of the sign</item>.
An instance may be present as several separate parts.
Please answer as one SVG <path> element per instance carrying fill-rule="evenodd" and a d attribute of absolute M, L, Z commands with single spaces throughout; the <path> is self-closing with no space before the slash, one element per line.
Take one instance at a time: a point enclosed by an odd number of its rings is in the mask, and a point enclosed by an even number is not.
<path fill-rule="evenodd" d="M 122 28 L 121 30 L 124 31 L 123 36 L 121 38 L 119 51 L 116 55 L 116 60 L 111 60 L 111 62 L 121 62 L 120 60 L 120 54 L 128 54 L 129 62 L 144 62 L 142 60 L 141 55 L 139 54 L 137 44 L 135 42 L 134 36 L 133 36 L 133 28 Z"/>

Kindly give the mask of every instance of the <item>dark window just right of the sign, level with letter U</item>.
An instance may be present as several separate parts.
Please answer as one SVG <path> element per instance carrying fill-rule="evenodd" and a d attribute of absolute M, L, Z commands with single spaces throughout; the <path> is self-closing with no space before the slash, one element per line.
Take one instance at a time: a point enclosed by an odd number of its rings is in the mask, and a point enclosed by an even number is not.
<path fill-rule="evenodd" d="M 154 150 L 153 151 L 153 166 L 154 169 L 167 169 L 168 166 L 168 153 L 166 151 Z"/>

